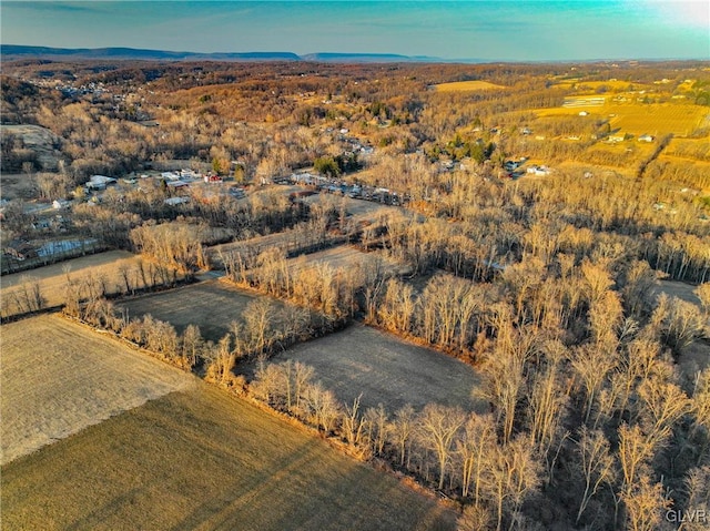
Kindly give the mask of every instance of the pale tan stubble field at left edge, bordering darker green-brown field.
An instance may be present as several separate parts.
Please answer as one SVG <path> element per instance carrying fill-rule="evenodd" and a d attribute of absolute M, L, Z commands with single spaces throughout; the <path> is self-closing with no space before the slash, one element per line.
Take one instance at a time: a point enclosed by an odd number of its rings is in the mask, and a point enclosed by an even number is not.
<path fill-rule="evenodd" d="M 194 381 L 58 315 L 3 325 L 0 462 Z"/>

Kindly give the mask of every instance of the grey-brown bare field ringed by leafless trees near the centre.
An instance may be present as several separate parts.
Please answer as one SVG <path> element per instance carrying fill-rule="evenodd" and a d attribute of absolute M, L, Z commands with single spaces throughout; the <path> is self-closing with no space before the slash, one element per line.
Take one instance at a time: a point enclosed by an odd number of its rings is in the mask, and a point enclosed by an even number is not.
<path fill-rule="evenodd" d="M 477 411 L 486 407 L 471 398 L 479 381 L 470 366 L 366 326 L 297 345 L 274 361 L 287 359 L 312 366 L 314 379 L 343 402 L 362 394 L 363 407 L 383 404 L 390 413 L 407 404 L 416 409 L 427 404 Z"/>

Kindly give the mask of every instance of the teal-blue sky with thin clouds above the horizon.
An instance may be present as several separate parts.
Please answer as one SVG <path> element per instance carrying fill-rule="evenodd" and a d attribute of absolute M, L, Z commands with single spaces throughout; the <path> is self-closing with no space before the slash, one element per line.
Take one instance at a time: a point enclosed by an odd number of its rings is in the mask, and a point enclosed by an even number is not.
<path fill-rule="evenodd" d="M 710 60 L 708 0 L 1 0 L 0 30 L 55 48 Z"/>

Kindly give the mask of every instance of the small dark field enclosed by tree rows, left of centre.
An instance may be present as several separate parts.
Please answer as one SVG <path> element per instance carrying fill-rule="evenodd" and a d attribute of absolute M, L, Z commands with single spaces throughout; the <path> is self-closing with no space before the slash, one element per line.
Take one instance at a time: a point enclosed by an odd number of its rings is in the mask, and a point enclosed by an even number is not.
<path fill-rule="evenodd" d="M 246 305 L 258 295 L 230 286 L 220 280 L 207 280 L 182 286 L 169 292 L 142 295 L 121 302 L 129 317 L 150 314 L 170 323 L 179 333 L 187 325 L 197 325 L 205 339 L 219 341 L 229 331 L 230 323 L 241 317 Z M 283 303 L 274 300 L 274 304 Z"/>

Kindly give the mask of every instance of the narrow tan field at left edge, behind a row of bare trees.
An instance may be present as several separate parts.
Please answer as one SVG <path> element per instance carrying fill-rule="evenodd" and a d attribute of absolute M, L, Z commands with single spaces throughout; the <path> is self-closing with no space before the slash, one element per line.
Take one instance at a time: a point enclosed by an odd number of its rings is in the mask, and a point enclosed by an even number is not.
<path fill-rule="evenodd" d="M 93 276 L 94 278 L 105 278 L 108 290 L 115 292 L 116 286 L 122 286 L 120 270 L 126 268 L 131 275 L 132 284 L 140 288 L 142 282 L 136 273 L 136 266 L 141 258 L 126 251 L 109 251 L 95 255 L 82 256 L 65 262 L 60 262 L 44 267 L 38 267 L 22 273 L 4 275 L 0 278 L 2 285 L 2 316 L 12 315 L 16 309 L 10 304 L 11 296 L 18 290 L 18 285 L 24 278 L 39 279 L 42 296 L 45 298 L 45 306 L 58 306 L 64 302 L 67 286 L 67 268 L 72 282 L 81 283 Z M 120 289 L 120 287 L 119 287 Z"/>

